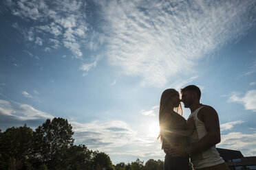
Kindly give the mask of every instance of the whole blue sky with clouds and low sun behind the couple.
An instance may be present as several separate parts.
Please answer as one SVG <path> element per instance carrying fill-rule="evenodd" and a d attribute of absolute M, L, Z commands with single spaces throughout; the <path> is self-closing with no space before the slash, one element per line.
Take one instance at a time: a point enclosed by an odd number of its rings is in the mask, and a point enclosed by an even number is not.
<path fill-rule="evenodd" d="M 164 160 L 162 91 L 195 84 L 217 147 L 256 156 L 256 1 L 3 0 L 0 22 L 2 132 L 62 117 L 114 164 Z"/>

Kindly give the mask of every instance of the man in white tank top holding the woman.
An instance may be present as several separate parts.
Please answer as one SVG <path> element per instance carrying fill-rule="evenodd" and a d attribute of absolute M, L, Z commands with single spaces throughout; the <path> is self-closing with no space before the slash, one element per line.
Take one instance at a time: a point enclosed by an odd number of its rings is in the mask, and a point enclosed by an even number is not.
<path fill-rule="evenodd" d="M 195 130 L 189 136 L 189 147 L 176 145 L 169 150 L 171 156 L 190 155 L 193 169 L 228 170 L 215 145 L 220 143 L 220 122 L 217 112 L 211 106 L 200 104 L 201 91 L 198 86 L 189 85 L 181 89 L 185 108 L 191 110 L 189 117 L 195 119 Z"/>

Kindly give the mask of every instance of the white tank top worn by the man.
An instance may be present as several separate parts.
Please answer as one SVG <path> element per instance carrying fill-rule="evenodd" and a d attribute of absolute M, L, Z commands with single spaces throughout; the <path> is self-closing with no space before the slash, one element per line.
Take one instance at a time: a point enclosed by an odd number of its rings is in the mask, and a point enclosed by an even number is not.
<path fill-rule="evenodd" d="M 198 112 L 202 107 L 198 108 L 189 115 L 189 117 L 194 117 L 196 127 L 193 134 L 189 136 L 189 143 L 196 143 L 207 134 L 204 122 L 198 119 Z M 214 145 L 213 147 L 202 151 L 199 154 L 191 154 L 191 162 L 194 169 L 199 169 L 222 164 L 224 160 L 220 157 L 220 154 Z"/>

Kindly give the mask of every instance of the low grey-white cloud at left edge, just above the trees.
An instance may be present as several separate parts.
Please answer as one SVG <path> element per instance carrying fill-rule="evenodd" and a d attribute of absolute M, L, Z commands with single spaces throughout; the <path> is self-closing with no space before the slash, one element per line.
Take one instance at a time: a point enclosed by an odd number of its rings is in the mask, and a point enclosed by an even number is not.
<path fill-rule="evenodd" d="M 19 104 L 0 99 L 0 114 L 15 117 L 21 121 L 35 119 L 53 119 L 51 114 L 36 110 L 28 104 Z"/>

